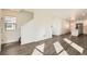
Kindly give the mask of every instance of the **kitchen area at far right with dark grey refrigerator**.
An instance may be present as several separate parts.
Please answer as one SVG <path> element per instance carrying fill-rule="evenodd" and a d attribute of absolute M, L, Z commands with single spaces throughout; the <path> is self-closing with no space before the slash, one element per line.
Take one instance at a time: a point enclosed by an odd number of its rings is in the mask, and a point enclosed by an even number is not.
<path fill-rule="evenodd" d="M 87 13 L 81 12 L 76 14 L 70 20 L 70 34 L 72 36 L 87 35 Z"/>

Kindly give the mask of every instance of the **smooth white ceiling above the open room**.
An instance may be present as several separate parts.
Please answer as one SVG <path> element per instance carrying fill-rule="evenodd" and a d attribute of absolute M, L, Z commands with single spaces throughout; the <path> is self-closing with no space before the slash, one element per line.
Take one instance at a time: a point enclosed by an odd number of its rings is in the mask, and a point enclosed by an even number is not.
<path fill-rule="evenodd" d="M 12 10 L 12 9 L 11 9 Z M 29 12 L 35 12 L 35 11 L 41 11 L 46 12 L 48 14 L 52 14 L 53 16 L 58 16 L 61 18 L 68 18 L 74 14 L 80 13 L 83 11 L 87 11 L 86 9 L 13 9 L 15 11 L 29 11 Z"/>

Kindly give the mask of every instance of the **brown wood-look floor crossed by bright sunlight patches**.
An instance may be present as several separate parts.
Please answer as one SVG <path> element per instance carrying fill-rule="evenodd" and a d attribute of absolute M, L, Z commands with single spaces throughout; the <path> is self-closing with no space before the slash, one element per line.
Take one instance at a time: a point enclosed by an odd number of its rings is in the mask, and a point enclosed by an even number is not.
<path fill-rule="evenodd" d="M 64 38 L 80 47 L 83 52 L 80 53 L 79 50 L 67 43 Z M 61 47 L 58 47 L 59 44 Z M 69 34 L 53 36 L 53 38 L 23 46 L 19 42 L 9 43 L 2 46 L 0 55 L 87 55 L 87 35 L 79 37 L 72 37 Z"/>

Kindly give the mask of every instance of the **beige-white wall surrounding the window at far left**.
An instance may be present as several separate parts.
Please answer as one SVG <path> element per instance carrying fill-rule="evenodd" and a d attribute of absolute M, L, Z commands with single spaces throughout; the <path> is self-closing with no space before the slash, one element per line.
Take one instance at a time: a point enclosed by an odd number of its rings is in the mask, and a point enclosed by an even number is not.
<path fill-rule="evenodd" d="M 3 30 L 3 43 L 9 43 L 9 42 L 15 42 L 19 40 L 21 37 L 21 26 L 33 18 L 33 14 L 31 12 L 26 11 L 15 11 L 15 10 L 9 10 L 4 9 L 2 10 L 2 16 L 13 16 L 17 17 L 17 28 L 15 30 Z"/>

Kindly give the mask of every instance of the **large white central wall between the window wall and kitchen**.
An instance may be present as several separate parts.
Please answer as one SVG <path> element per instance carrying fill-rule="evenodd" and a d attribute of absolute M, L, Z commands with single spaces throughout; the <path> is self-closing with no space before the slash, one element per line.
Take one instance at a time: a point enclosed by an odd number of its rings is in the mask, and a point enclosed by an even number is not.
<path fill-rule="evenodd" d="M 34 10 L 34 20 L 21 27 L 21 43 L 40 41 L 52 38 L 52 35 L 67 33 L 62 18 L 53 13 L 51 10 Z"/>

